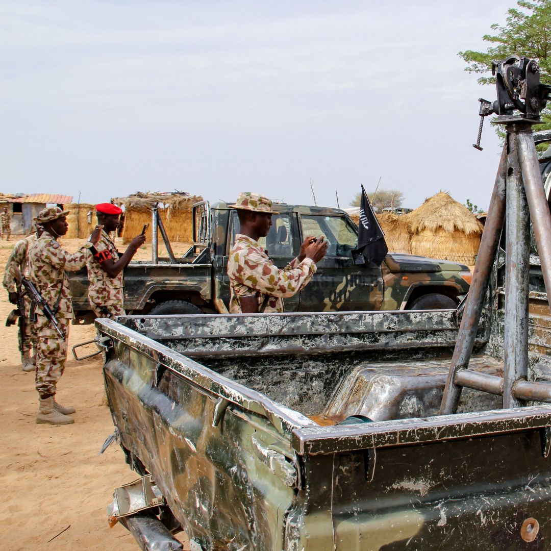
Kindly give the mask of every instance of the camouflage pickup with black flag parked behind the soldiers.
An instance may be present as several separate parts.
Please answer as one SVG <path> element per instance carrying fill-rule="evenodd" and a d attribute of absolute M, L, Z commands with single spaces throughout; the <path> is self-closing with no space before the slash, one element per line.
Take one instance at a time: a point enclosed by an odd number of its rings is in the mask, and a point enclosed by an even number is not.
<path fill-rule="evenodd" d="M 279 267 L 298 255 L 302 236 L 325 235 L 327 256 L 311 282 L 290 299 L 288 312 L 452 308 L 466 295 L 471 272 L 454 262 L 389 253 L 381 267 L 356 266 L 358 228 L 343 210 L 276 203 L 274 224 L 261 245 Z M 226 203 L 195 207 L 195 244 L 182 258 L 131 262 L 125 308 L 135 314 L 227 312 L 228 254 L 239 220 Z M 90 310 L 86 271 L 69 274 L 77 316 Z"/>

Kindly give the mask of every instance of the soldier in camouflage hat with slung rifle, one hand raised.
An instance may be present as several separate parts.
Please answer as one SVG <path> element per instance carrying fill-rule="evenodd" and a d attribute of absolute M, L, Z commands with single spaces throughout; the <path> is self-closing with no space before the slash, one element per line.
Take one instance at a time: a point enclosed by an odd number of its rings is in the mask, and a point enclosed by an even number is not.
<path fill-rule="evenodd" d="M 69 414 L 73 407 L 63 407 L 55 400 L 57 382 L 65 369 L 69 322 L 73 317 L 71 289 L 66 271 L 76 272 L 82 268 L 88 255 L 98 255 L 94 244 L 98 242 L 101 226 L 96 226 L 90 242 L 75 253 L 64 251 L 57 238 L 67 233 L 68 212 L 58 207 L 40 211 L 35 222 L 42 224 L 44 233 L 29 251 L 29 279 L 46 300 L 57 317 L 64 337 L 56 332 L 42 312 L 36 312 L 38 353 L 36 355 L 36 390 L 40 396 L 40 409 L 36 423 L 67 425 L 74 423 Z"/>

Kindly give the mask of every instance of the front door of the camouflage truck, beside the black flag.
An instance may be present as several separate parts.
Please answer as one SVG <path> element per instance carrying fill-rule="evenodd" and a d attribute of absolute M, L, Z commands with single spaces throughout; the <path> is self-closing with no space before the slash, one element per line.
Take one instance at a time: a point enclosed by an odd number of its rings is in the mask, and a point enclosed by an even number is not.
<path fill-rule="evenodd" d="M 302 312 L 379 310 L 383 296 L 381 268 L 356 266 L 352 251 L 358 235 L 350 222 L 339 215 L 300 214 L 301 240 L 323 235 L 329 243 L 327 255 L 300 293 Z"/>

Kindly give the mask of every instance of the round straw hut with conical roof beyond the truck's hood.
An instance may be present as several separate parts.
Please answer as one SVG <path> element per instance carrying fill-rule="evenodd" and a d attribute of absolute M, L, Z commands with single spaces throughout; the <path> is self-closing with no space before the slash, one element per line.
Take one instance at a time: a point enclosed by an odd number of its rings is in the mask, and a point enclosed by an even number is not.
<path fill-rule="evenodd" d="M 406 219 L 413 255 L 474 264 L 483 226 L 447 193 L 441 191 L 426 199 Z"/>

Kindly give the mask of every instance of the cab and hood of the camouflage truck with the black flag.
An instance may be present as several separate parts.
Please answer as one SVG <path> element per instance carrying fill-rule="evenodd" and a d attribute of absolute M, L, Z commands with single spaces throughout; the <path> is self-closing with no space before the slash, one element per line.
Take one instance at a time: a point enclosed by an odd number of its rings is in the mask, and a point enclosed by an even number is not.
<path fill-rule="evenodd" d="M 306 236 L 323 235 L 329 244 L 315 277 L 300 293 L 285 299 L 285 311 L 410 310 L 419 304 L 426 310 L 455 308 L 468 291 L 471 272 L 455 262 L 388 253 L 381 266 L 355 264 L 352 251 L 358 226 L 344 210 L 285 203 L 273 203 L 272 208 L 278 214 L 260 245 L 279 268 L 298 256 Z M 239 218 L 224 202 L 212 212 L 213 235 L 220 237 L 213 246 L 214 264 L 221 268 L 215 270 L 217 295 L 227 306 L 228 255 L 239 233 Z"/>

